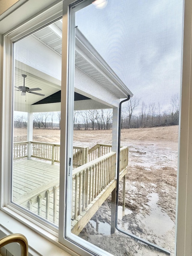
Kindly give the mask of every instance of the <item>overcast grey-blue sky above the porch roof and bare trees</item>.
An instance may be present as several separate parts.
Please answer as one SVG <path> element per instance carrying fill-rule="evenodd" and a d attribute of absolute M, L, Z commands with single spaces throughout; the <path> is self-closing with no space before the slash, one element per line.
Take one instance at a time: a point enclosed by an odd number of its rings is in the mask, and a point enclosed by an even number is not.
<path fill-rule="evenodd" d="M 181 0 L 108 0 L 76 14 L 76 25 L 141 102 L 163 110 L 180 91 Z"/>

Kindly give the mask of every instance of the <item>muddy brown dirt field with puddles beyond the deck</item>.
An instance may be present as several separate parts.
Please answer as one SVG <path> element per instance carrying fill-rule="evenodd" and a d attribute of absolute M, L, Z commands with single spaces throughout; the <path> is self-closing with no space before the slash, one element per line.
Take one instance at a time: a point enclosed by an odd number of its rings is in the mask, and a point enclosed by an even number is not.
<path fill-rule="evenodd" d="M 33 135 L 35 141 L 60 140 L 59 130 L 35 129 Z M 76 146 L 110 144 L 111 139 L 112 130 L 74 131 Z M 14 141 L 25 140 L 26 130 L 15 129 Z M 129 166 L 123 218 L 119 196 L 119 227 L 174 255 L 178 126 L 122 130 L 121 145 L 129 146 Z M 118 231 L 110 235 L 110 210 L 109 197 L 79 236 L 113 255 L 166 255 Z"/>

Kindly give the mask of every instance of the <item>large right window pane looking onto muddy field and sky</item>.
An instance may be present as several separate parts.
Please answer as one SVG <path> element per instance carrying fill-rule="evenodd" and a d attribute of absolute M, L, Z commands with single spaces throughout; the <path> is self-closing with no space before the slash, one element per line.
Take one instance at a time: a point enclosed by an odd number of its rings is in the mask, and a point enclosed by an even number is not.
<path fill-rule="evenodd" d="M 174 255 L 182 6 L 95 1 L 75 13 L 67 213 L 71 237 L 101 255 Z"/>

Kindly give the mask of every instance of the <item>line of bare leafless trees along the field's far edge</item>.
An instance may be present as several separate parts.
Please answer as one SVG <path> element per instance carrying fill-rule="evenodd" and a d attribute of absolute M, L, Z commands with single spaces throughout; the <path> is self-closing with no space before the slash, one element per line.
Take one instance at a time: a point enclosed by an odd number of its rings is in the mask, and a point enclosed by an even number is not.
<path fill-rule="evenodd" d="M 61 111 L 33 114 L 33 128 L 60 129 Z M 109 130 L 112 128 L 113 110 L 74 111 L 74 130 Z M 160 103 L 146 104 L 137 97 L 131 98 L 122 106 L 121 128 L 145 128 L 179 124 L 179 94 L 171 97 L 170 106 L 162 111 Z M 27 127 L 27 115 L 14 116 L 15 128 Z"/>

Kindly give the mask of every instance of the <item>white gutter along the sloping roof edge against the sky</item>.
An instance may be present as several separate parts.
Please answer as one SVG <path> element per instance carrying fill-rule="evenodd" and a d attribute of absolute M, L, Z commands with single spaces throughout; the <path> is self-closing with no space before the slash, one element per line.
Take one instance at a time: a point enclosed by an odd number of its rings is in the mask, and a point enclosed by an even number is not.
<path fill-rule="evenodd" d="M 107 62 L 101 57 L 101 55 L 95 50 L 87 38 L 76 28 L 76 46 L 82 50 L 84 55 L 88 56 L 106 75 L 110 78 L 117 89 L 125 93 L 126 96 L 130 95 L 133 97 L 133 93 L 127 88 L 122 80 L 116 75 L 116 73 L 110 68 Z M 84 57 L 84 56 L 83 56 Z M 91 63 L 91 64 L 92 64 Z"/>

